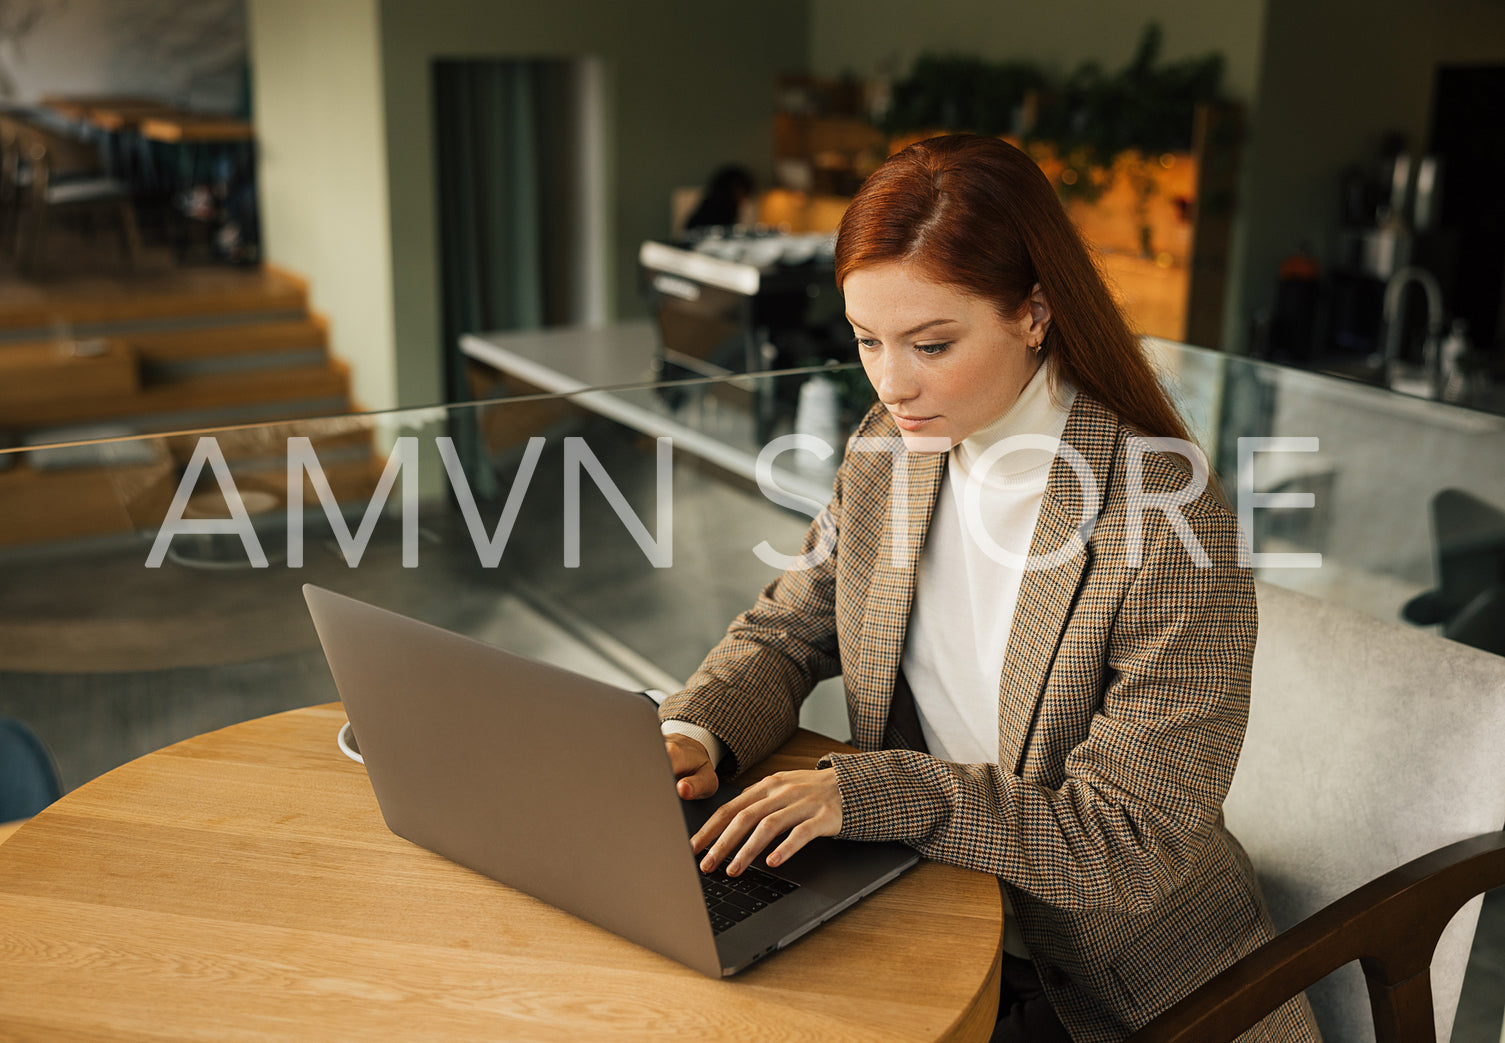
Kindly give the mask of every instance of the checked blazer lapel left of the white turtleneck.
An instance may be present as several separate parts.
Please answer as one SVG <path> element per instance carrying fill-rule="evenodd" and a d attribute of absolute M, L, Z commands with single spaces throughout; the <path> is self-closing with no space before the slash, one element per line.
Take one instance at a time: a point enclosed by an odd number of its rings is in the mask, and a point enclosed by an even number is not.
<path fill-rule="evenodd" d="M 855 679 L 847 679 L 858 713 L 853 745 L 879 750 L 888 724 L 898 661 L 905 652 L 909 607 L 926 530 L 945 477 L 947 453 L 895 453 L 888 518 L 862 610 Z M 855 683 L 853 683 L 855 682 Z"/>

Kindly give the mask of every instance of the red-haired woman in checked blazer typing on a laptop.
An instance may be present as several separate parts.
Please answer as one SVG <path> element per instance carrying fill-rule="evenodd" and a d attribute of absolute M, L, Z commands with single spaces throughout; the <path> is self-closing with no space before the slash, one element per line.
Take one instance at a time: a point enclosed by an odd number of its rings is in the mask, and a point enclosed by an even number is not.
<path fill-rule="evenodd" d="M 891 157 L 841 221 L 837 283 L 879 405 L 802 567 L 664 731 L 680 795 L 707 796 L 841 673 L 862 753 L 749 787 L 692 844 L 733 874 L 784 831 L 771 865 L 840 835 L 993 873 L 993 1038 L 1120 1040 L 1272 935 L 1222 822 L 1255 638 L 1237 525 L 1017 149 Z M 1249 1038 L 1317 1038 L 1305 999 Z"/>

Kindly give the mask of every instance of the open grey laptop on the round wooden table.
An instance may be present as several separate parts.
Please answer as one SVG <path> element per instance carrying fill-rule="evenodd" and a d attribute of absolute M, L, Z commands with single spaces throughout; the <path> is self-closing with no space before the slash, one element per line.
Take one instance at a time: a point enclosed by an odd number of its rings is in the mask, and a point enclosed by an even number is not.
<path fill-rule="evenodd" d="M 703 874 L 689 837 L 736 790 L 682 801 L 643 692 L 304 585 L 387 826 L 710 977 L 742 971 L 920 861 L 811 841 Z M 769 846 L 772 850 L 772 846 Z"/>

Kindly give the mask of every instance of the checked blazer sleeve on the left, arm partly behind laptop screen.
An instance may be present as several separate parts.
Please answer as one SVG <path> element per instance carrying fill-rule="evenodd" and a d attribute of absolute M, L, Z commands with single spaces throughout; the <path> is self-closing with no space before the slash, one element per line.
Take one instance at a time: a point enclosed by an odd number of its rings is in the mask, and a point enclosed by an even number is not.
<path fill-rule="evenodd" d="M 721 739 L 730 754 L 718 769 L 724 777 L 789 740 L 810 689 L 841 673 L 835 572 L 844 474 L 843 464 L 831 501 L 805 530 L 796 564 L 763 588 L 685 689 L 659 707 L 659 719 L 689 721 Z"/>

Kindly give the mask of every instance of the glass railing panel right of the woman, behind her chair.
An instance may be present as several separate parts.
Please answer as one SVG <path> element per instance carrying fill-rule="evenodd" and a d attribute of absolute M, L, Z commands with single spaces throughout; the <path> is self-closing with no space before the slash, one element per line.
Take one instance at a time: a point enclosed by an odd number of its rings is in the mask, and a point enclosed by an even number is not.
<path fill-rule="evenodd" d="M 1505 415 L 1184 345 L 1151 349 L 1230 495 L 1240 439 L 1311 439 L 1248 453 L 1254 549 L 1321 555 L 1320 567 L 1255 558 L 1261 579 L 1418 623 L 1442 620 L 1413 599 L 1478 593 L 1458 590 L 1460 554 L 1473 579 L 1505 582 Z M 1248 494 L 1290 500 L 1252 507 Z"/>

